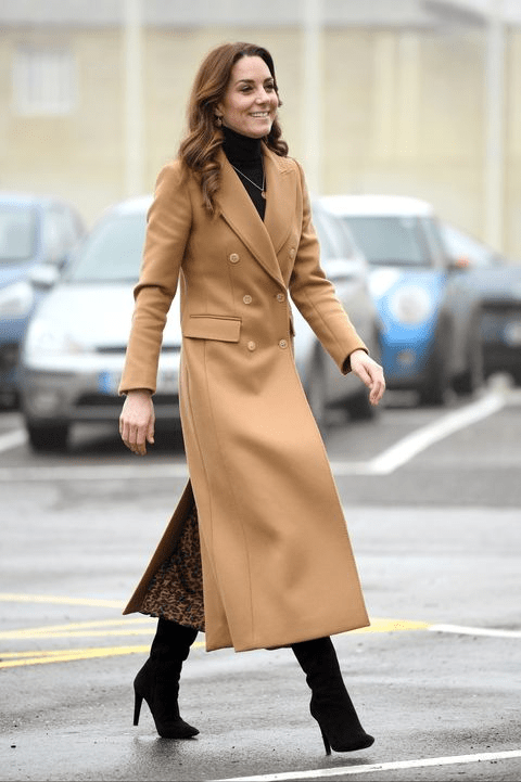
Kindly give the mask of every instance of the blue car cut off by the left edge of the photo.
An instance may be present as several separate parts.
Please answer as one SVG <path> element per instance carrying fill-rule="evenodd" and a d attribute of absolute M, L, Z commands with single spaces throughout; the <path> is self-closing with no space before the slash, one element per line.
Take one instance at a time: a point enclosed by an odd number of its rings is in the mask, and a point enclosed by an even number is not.
<path fill-rule="evenodd" d="M 20 346 L 45 287 L 84 232 L 76 209 L 54 197 L 0 193 L 0 400 L 18 392 Z M 46 286 L 31 279 L 47 280 Z"/>

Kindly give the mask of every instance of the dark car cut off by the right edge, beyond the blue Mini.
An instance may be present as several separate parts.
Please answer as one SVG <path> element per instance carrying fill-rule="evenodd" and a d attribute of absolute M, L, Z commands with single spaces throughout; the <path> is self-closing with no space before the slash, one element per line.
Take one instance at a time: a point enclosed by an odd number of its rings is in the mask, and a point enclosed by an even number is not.
<path fill-rule="evenodd" d="M 455 226 L 442 222 L 455 266 L 481 307 L 480 336 L 485 377 L 508 372 L 521 384 L 521 264 Z"/>

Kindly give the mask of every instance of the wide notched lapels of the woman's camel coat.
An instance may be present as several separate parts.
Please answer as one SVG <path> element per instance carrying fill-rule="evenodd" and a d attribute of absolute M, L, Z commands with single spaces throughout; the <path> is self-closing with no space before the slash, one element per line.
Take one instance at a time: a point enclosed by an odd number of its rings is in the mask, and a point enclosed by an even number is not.
<path fill-rule="evenodd" d="M 223 150 L 218 156 L 221 182 L 216 201 L 223 218 L 255 259 L 270 277 L 283 284 L 277 253 L 293 223 L 295 171 L 285 158 L 267 148 L 263 152 L 267 194 L 264 222 Z"/>

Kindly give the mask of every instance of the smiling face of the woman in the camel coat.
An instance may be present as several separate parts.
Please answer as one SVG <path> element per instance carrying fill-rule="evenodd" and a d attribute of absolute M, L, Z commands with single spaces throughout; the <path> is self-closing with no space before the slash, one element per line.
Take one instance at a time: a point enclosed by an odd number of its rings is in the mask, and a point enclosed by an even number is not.
<path fill-rule="evenodd" d="M 252 139 L 271 130 L 279 99 L 274 77 L 262 57 L 241 57 L 231 68 L 223 102 L 223 125 Z"/>

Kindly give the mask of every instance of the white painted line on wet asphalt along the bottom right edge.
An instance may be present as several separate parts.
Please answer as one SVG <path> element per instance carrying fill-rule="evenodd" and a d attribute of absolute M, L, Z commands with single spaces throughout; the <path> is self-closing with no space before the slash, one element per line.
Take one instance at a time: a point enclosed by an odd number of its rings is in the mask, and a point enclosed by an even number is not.
<path fill-rule="evenodd" d="M 213 782 L 282 782 L 282 780 L 313 780 L 348 774 L 370 773 L 371 771 L 399 771 L 409 768 L 428 768 L 429 766 L 457 766 L 470 762 L 497 762 L 521 758 L 521 749 L 508 752 L 484 752 L 476 755 L 454 755 L 452 757 L 428 757 L 419 760 L 397 760 L 395 762 L 372 762 L 363 766 L 336 766 L 335 768 L 314 769 L 309 771 L 288 771 L 255 777 L 229 777 Z"/>

